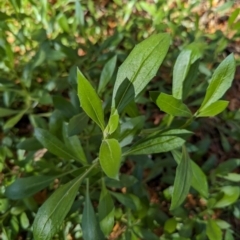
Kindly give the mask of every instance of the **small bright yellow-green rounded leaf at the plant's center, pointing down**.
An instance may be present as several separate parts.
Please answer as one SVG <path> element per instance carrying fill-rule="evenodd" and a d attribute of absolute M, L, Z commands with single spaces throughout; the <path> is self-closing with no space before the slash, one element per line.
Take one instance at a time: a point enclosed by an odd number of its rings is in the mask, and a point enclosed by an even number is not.
<path fill-rule="evenodd" d="M 121 147 L 116 139 L 102 141 L 99 160 L 103 171 L 109 178 L 118 179 L 121 163 Z"/>

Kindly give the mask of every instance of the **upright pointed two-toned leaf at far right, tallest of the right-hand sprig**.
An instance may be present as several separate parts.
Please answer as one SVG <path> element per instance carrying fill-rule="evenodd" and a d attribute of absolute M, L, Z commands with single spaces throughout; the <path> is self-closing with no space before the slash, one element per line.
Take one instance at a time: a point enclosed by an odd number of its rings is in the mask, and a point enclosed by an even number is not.
<path fill-rule="evenodd" d="M 206 109 L 223 96 L 223 94 L 232 84 L 235 68 L 234 56 L 233 54 L 230 54 L 220 63 L 218 68 L 213 73 L 199 111 L 203 111 L 203 109 Z"/>

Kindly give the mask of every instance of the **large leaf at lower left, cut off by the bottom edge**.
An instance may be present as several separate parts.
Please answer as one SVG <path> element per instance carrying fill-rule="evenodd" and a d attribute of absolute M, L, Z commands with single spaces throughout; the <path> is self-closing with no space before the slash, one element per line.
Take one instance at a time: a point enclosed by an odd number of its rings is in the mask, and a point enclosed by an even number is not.
<path fill-rule="evenodd" d="M 50 240 L 59 230 L 77 195 L 83 176 L 58 188 L 39 208 L 33 222 L 35 240 Z"/>

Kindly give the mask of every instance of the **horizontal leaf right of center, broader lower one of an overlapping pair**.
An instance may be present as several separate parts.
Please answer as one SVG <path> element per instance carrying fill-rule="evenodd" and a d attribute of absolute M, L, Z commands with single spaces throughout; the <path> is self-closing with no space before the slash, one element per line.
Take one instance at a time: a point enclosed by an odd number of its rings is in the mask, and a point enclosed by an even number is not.
<path fill-rule="evenodd" d="M 141 155 L 168 152 L 181 147 L 184 139 L 176 136 L 154 136 L 134 144 L 124 155 Z"/>

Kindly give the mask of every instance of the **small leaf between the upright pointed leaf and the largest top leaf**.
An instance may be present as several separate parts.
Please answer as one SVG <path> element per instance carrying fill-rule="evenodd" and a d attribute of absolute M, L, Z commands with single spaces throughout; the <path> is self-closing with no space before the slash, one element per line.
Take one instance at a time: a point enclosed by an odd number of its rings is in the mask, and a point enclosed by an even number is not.
<path fill-rule="evenodd" d="M 101 93 L 108 84 L 108 82 L 111 80 L 114 73 L 114 69 L 116 67 L 116 63 L 117 56 L 114 56 L 111 59 L 109 59 L 108 62 L 104 65 L 98 85 L 98 93 Z"/>

